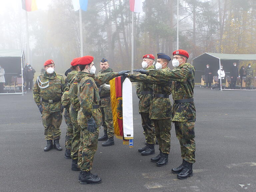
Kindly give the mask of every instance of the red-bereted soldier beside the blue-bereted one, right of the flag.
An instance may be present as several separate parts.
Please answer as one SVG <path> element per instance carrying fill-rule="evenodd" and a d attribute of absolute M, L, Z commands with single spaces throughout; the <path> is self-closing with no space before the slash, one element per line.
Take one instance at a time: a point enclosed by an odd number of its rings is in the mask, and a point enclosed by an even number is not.
<path fill-rule="evenodd" d="M 142 67 L 145 69 L 154 69 L 155 57 L 152 54 L 146 54 L 143 56 Z M 155 153 L 155 127 L 154 122 L 149 118 L 150 104 L 154 98 L 153 85 L 145 82 L 137 82 L 136 93 L 139 101 L 139 113 L 141 115 L 143 133 L 145 133 L 146 146 L 138 149 L 141 155 L 146 156 Z"/>

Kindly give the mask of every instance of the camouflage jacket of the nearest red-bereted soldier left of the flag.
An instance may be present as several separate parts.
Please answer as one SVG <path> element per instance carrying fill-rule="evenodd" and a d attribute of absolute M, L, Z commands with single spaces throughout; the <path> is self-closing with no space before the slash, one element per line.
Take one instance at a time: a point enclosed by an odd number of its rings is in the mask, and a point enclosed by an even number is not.
<path fill-rule="evenodd" d="M 94 76 L 80 71 L 77 74 L 77 97 L 81 108 L 78 111 L 77 122 L 81 127 L 87 127 L 87 119 L 94 118 L 96 126 L 102 125 L 102 114 L 100 108 L 93 109 L 93 105 L 99 105 L 100 95 L 98 87 L 114 77 L 118 73 L 109 72 Z"/>

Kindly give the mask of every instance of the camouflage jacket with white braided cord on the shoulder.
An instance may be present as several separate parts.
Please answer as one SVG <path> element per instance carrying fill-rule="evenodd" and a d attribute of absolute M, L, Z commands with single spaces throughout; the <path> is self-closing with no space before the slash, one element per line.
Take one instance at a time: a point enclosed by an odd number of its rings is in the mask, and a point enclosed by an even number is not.
<path fill-rule="evenodd" d="M 39 78 L 42 83 L 49 81 L 49 86 L 47 88 L 42 89 L 38 86 L 38 82 L 35 83 L 33 88 L 33 97 L 36 102 L 36 105 L 38 106 L 42 104 L 43 111 L 49 111 L 49 112 L 60 111 L 61 96 L 63 93 L 62 84 L 64 84 L 63 76 L 55 72 L 52 75 L 49 75 L 45 72 L 43 75 L 40 75 Z M 59 100 L 59 101 L 54 103 L 47 103 L 42 101 L 41 103 L 41 98 L 44 100 Z"/>

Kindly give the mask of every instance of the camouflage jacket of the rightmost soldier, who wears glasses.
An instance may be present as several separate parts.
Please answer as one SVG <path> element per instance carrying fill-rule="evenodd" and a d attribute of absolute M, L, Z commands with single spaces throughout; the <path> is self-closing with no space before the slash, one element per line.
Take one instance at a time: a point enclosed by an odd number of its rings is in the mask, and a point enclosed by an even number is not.
<path fill-rule="evenodd" d="M 173 100 L 193 98 L 195 68 L 184 63 L 173 70 L 149 70 L 147 75 L 155 78 L 157 84 L 166 85 L 172 82 Z M 195 122 L 196 109 L 194 102 L 173 104 L 172 121 Z"/>

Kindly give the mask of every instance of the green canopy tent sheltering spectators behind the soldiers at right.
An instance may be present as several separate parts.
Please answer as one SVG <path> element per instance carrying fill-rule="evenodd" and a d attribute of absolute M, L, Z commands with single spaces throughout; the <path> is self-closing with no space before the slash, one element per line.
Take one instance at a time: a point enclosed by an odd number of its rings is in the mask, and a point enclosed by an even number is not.
<path fill-rule="evenodd" d="M 236 62 L 239 66 L 240 61 L 256 60 L 256 54 L 222 54 L 222 53 L 204 53 L 192 60 L 192 65 L 195 66 L 195 82 L 200 83 L 201 77 L 204 75 L 204 70 L 207 64 L 209 64 L 213 70 L 213 75 L 218 76 L 217 71 L 220 68 L 220 63 L 223 65 L 225 74 L 229 74 L 233 62 Z"/>

